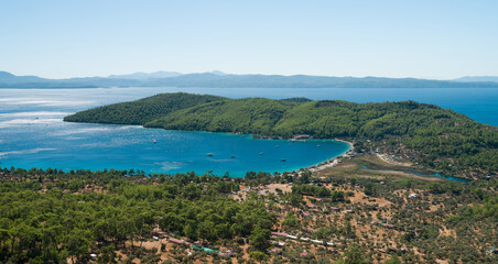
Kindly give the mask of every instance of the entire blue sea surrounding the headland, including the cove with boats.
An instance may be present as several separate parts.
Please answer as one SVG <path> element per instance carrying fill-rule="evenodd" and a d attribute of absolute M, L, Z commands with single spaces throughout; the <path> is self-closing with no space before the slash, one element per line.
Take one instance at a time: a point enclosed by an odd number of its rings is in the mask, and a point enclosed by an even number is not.
<path fill-rule="evenodd" d="M 289 172 L 344 154 L 337 141 L 257 140 L 228 133 L 166 131 L 139 125 L 63 122 L 85 109 L 163 92 L 228 98 L 383 102 L 414 100 L 452 109 L 498 125 L 498 89 L 492 88 L 85 88 L 0 89 L 0 167 L 133 169 L 149 174 L 195 172 L 231 177 L 247 172 Z M 154 144 L 155 141 L 155 144 Z"/>

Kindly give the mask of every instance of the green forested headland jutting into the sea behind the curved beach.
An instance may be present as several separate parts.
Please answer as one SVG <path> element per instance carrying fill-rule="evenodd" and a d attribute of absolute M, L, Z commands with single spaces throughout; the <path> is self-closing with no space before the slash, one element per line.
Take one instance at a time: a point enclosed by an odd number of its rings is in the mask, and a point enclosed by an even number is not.
<path fill-rule="evenodd" d="M 149 100 L 155 103 L 150 109 L 165 111 L 144 111 Z M 379 148 L 445 172 L 498 170 L 498 128 L 414 101 L 354 103 L 171 94 L 87 110 L 66 117 L 65 121 L 282 138 L 339 138 L 357 142 L 358 151 Z"/>

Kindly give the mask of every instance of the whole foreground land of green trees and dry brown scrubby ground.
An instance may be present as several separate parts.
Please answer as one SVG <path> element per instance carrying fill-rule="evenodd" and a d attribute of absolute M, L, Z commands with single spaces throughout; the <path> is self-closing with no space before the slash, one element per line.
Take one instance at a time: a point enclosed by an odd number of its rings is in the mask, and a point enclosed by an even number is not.
<path fill-rule="evenodd" d="M 3 168 L 0 262 L 492 263 L 497 188 L 496 179 Z"/>

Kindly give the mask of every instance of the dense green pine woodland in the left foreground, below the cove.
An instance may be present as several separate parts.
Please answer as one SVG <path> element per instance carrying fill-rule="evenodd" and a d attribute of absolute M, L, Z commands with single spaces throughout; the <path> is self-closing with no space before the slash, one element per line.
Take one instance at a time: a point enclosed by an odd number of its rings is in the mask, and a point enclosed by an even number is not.
<path fill-rule="evenodd" d="M 106 246 L 141 245 L 156 227 L 210 243 L 250 238 L 255 248 L 264 250 L 275 223 L 262 200 L 237 202 L 224 195 L 239 188 L 234 178 L 194 174 L 122 178 L 127 172 L 118 170 L 1 173 L 12 174 L 40 176 L 0 184 L 0 262 L 58 263 L 67 257 L 86 262 L 89 251 L 107 252 L 101 257 L 112 258 L 113 251 Z M 89 191 L 89 186 L 105 190 Z"/>

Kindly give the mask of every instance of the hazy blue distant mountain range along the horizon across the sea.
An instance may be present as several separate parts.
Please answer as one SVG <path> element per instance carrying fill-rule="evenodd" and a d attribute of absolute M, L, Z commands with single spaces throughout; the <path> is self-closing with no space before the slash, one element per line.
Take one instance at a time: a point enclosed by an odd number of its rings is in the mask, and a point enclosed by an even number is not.
<path fill-rule="evenodd" d="M 328 77 L 310 75 L 231 75 L 219 70 L 202 74 L 156 72 L 46 79 L 0 72 L 0 88 L 96 87 L 206 87 L 206 88 L 498 88 L 498 77 L 463 77 L 454 80 L 383 77 Z"/>

